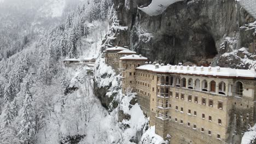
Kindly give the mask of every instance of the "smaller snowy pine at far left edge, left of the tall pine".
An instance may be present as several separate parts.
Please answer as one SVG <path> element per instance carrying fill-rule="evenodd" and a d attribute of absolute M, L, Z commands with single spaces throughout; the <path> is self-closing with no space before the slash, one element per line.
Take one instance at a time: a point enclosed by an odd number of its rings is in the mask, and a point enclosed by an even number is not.
<path fill-rule="evenodd" d="M 4 127 L 10 127 L 11 121 L 13 121 L 13 111 L 9 100 L 6 102 L 3 112 L 3 125 Z"/>

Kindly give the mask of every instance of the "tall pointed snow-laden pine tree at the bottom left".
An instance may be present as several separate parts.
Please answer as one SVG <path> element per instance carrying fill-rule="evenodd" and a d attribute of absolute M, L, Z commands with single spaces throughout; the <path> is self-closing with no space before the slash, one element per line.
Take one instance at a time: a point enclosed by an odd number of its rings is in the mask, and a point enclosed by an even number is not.
<path fill-rule="evenodd" d="M 22 120 L 18 128 L 18 136 L 22 143 L 31 143 L 36 133 L 36 121 L 32 106 L 32 94 L 27 88 L 24 104 L 22 107 Z"/>

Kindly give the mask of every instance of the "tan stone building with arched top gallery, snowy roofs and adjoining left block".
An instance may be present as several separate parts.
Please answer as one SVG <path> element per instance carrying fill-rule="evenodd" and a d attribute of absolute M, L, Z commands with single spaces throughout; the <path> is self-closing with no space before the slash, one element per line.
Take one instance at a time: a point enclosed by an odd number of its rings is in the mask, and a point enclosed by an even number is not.
<path fill-rule="evenodd" d="M 119 58 L 123 93 L 138 95 L 155 133 L 170 143 L 241 143 L 255 123 L 256 72 Z"/>

